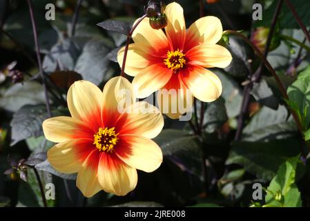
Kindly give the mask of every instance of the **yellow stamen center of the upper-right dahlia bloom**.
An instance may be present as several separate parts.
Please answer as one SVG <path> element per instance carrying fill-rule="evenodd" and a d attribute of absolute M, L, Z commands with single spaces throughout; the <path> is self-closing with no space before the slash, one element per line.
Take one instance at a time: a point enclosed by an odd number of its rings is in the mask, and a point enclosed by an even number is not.
<path fill-rule="evenodd" d="M 164 59 L 164 64 L 166 64 L 169 69 L 177 71 L 186 64 L 185 55 L 180 52 L 179 49 L 175 51 L 168 50 L 167 58 Z"/>

